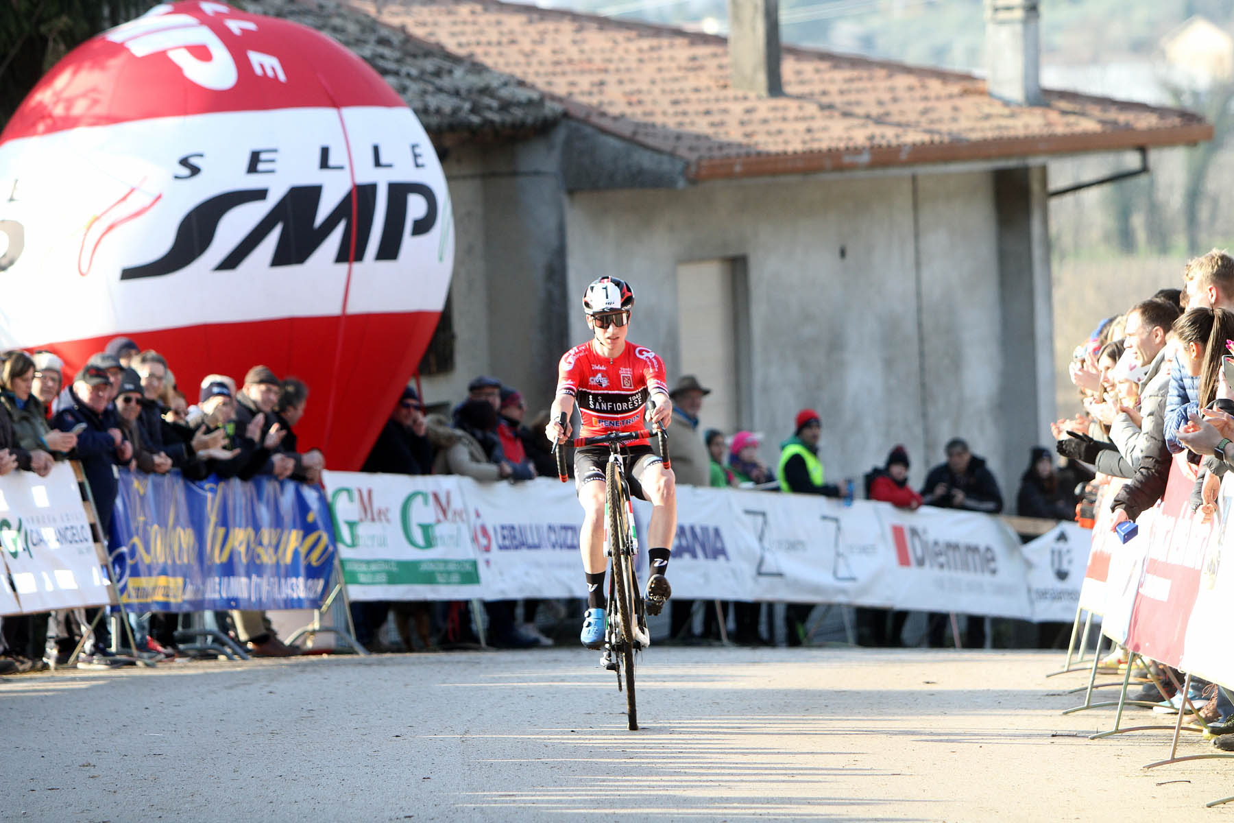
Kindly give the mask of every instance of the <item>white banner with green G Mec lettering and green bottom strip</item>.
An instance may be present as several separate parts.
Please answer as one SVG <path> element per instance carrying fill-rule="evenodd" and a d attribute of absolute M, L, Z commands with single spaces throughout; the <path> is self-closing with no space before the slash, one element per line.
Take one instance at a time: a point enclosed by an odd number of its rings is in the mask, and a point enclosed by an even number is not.
<path fill-rule="evenodd" d="M 325 473 L 352 600 L 485 596 L 464 480 Z"/>

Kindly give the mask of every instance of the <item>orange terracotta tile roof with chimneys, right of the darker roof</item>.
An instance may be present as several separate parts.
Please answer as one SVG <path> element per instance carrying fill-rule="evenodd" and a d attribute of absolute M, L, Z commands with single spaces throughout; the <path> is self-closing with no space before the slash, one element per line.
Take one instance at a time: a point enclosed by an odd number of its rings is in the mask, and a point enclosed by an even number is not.
<path fill-rule="evenodd" d="M 719 37 L 496 0 L 346 0 L 512 74 L 569 116 L 687 162 L 695 179 L 1176 146 L 1190 112 L 1046 93 L 1021 107 L 969 74 L 786 48 L 785 96 L 729 86 Z"/>

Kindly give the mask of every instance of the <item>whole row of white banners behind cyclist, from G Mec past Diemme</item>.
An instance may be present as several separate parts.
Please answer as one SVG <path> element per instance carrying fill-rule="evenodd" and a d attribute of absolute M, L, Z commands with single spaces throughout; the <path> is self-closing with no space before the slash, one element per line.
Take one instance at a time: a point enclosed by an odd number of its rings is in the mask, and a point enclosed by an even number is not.
<path fill-rule="evenodd" d="M 353 600 L 584 593 L 573 484 L 328 471 L 326 485 Z M 640 580 L 653 548 L 649 516 L 650 506 L 636 501 Z M 1025 553 L 986 515 L 682 486 L 670 579 L 684 598 L 1054 621 L 1075 613 L 1087 547 L 1075 526 Z"/>

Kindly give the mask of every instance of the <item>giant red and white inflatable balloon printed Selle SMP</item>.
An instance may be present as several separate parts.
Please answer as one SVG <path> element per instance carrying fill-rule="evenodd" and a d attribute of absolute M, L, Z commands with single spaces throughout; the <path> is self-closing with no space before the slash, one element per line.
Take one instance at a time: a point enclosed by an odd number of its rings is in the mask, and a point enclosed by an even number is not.
<path fill-rule="evenodd" d="M 0 345 L 75 370 L 123 334 L 190 402 L 264 363 L 311 390 L 300 447 L 355 469 L 454 262 L 416 116 L 311 28 L 160 5 L 83 43 L 0 133 Z"/>

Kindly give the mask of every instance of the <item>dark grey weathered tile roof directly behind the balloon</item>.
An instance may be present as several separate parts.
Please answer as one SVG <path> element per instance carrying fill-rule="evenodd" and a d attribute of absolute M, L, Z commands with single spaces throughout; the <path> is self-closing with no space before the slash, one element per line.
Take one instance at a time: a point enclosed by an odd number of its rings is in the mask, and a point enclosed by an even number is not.
<path fill-rule="evenodd" d="M 327 0 L 244 0 L 244 9 L 316 28 L 359 54 L 411 106 L 434 143 L 533 133 L 563 116 L 560 105 L 517 78 L 362 11 Z"/>

